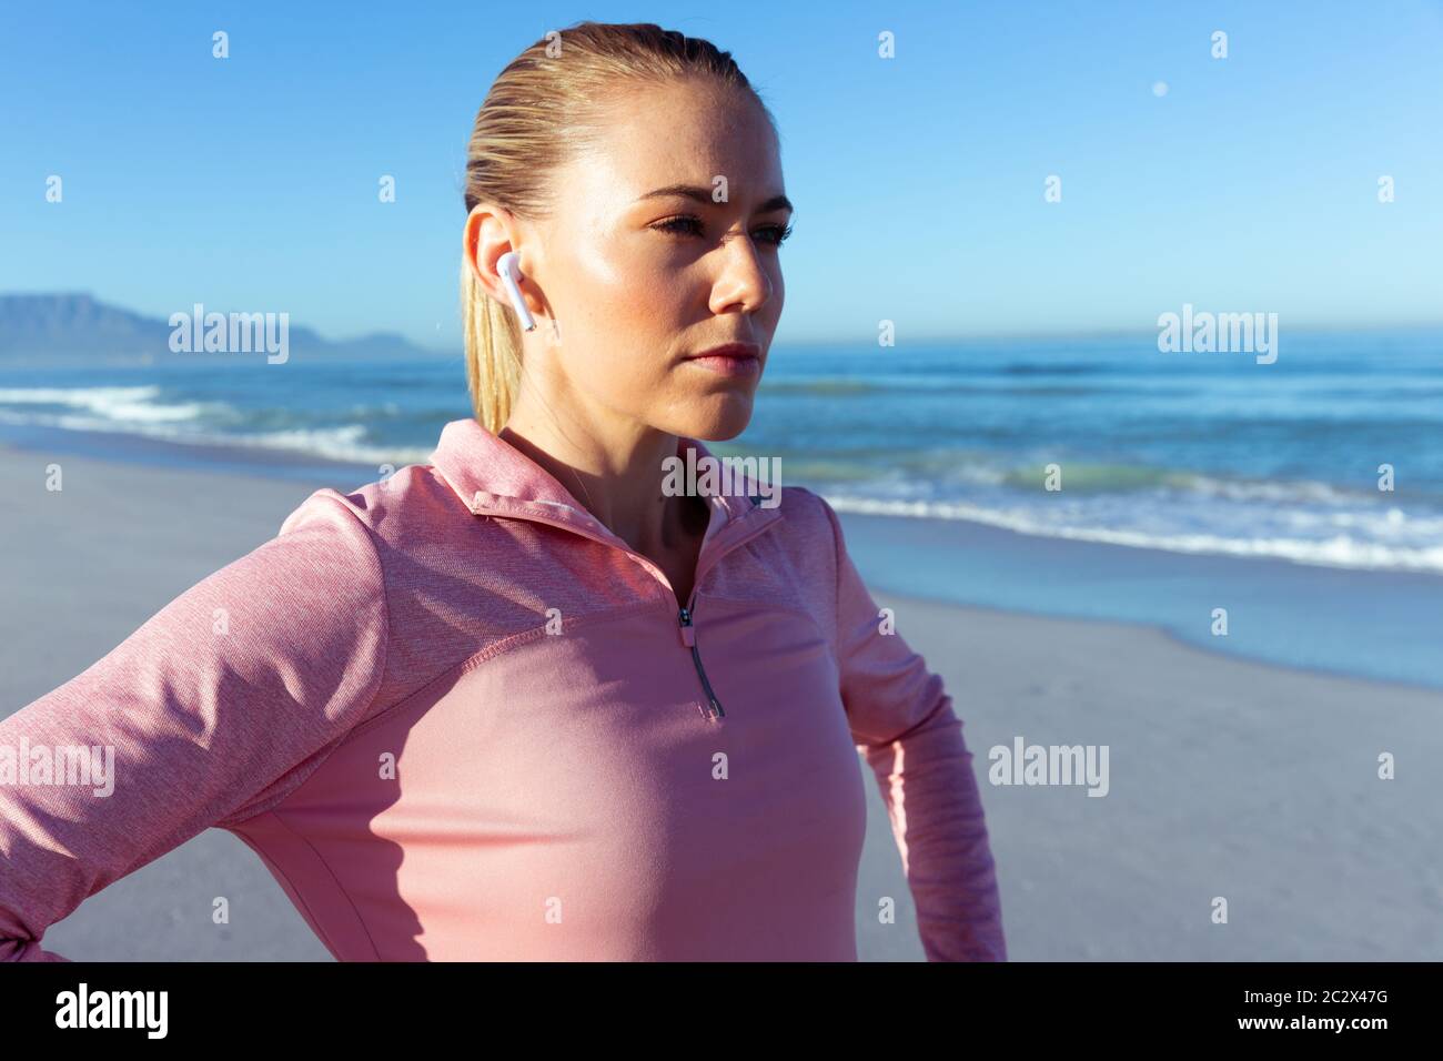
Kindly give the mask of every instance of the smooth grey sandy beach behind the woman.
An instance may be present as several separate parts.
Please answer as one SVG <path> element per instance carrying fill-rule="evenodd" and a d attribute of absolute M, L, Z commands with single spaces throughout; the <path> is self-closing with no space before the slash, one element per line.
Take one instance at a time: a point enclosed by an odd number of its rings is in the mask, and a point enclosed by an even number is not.
<path fill-rule="evenodd" d="M 52 460 L 62 491 L 45 488 Z M 322 485 L 359 481 L 0 447 L 0 717 L 273 537 Z M 1144 625 L 873 589 L 964 719 L 1013 960 L 1443 957 L 1443 693 L 1229 658 Z M 1107 794 L 990 784 L 988 749 L 1019 738 L 1105 745 Z M 1378 778 L 1382 752 L 1394 780 Z M 870 774 L 867 793 L 859 953 L 919 960 Z M 218 895 L 229 925 L 211 921 Z M 876 924 L 882 895 L 898 898 L 895 925 Z M 1227 924 L 1212 921 L 1215 896 Z M 221 830 L 97 894 L 45 943 L 74 960 L 330 960 L 255 855 Z"/>

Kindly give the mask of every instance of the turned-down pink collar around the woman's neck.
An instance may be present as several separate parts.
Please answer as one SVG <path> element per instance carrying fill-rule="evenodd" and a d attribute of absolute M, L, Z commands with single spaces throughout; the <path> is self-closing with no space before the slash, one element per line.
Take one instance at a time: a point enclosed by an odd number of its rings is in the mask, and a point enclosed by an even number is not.
<path fill-rule="evenodd" d="M 677 456 L 683 462 L 687 460 L 688 449 L 696 450 L 693 460 L 697 462 L 703 456 L 711 456 L 711 450 L 700 440 L 680 437 Z M 475 419 L 452 420 L 442 429 L 431 465 L 476 515 L 540 518 L 583 534 L 613 537 L 550 472 Z M 698 478 L 697 482 L 706 485 L 706 479 Z M 756 482 L 747 476 L 743 485 L 745 491 L 739 494 L 698 491 L 711 510 L 706 538 L 759 505 L 760 491 Z"/>

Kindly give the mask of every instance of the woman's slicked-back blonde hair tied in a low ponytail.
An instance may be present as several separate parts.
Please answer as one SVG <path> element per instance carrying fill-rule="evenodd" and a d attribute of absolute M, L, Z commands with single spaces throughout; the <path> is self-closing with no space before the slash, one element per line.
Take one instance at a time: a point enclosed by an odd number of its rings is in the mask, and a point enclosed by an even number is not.
<path fill-rule="evenodd" d="M 512 59 L 486 92 L 466 147 L 466 214 L 496 204 L 524 219 L 554 208 L 550 176 L 593 143 L 603 107 L 625 85 L 710 78 L 749 92 L 775 130 L 760 95 L 730 52 L 649 22 L 577 22 Z M 466 256 L 460 268 L 466 383 L 476 420 L 499 432 L 521 381 L 521 323 L 494 299 Z"/>

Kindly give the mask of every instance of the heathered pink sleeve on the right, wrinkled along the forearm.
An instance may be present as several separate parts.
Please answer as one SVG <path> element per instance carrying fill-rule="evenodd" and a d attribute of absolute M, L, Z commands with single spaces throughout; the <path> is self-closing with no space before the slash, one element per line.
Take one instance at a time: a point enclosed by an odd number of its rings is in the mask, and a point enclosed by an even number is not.
<path fill-rule="evenodd" d="M 942 678 L 898 632 L 837 544 L 841 699 L 857 751 L 876 774 L 902 855 L 928 961 L 1006 961 L 1001 902 L 973 754 Z"/>

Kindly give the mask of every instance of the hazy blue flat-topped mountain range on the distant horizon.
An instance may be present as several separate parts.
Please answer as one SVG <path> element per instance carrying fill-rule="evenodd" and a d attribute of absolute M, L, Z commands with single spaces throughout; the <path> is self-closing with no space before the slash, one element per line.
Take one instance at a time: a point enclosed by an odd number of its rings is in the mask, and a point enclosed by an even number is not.
<path fill-rule="evenodd" d="M 193 306 L 176 306 L 177 313 Z M 227 313 L 221 306 L 205 306 L 205 315 Z M 229 316 L 227 313 L 227 322 Z M 195 333 L 203 333 L 203 323 Z M 169 319 L 147 318 L 120 306 L 97 302 L 88 293 L 0 294 L 0 367 L 14 365 L 150 365 L 190 359 L 237 357 L 266 358 L 255 352 L 186 354 L 172 349 Z M 273 332 L 273 335 L 278 335 Z M 374 332 L 355 339 L 325 339 L 309 328 L 289 322 L 287 359 L 317 361 L 404 361 L 447 357 L 427 349 L 394 332 Z"/>

